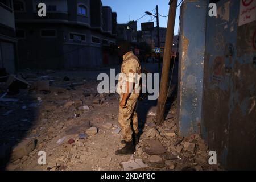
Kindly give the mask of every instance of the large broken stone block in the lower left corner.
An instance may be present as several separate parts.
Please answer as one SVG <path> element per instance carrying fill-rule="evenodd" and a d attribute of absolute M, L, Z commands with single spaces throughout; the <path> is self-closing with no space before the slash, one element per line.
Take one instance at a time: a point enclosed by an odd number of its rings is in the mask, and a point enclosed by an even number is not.
<path fill-rule="evenodd" d="M 11 161 L 17 160 L 30 154 L 35 149 L 35 140 L 24 140 L 13 148 Z"/>

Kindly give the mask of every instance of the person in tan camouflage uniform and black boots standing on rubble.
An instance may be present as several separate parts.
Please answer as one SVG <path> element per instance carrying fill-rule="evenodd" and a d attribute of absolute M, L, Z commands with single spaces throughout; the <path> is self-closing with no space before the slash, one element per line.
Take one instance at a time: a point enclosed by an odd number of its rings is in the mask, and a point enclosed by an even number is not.
<path fill-rule="evenodd" d="M 125 147 L 115 151 L 115 154 L 127 155 L 135 152 L 135 145 L 139 142 L 136 105 L 140 89 L 141 64 L 131 51 L 129 43 L 119 44 L 118 52 L 123 58 L 117 85 L 117 92 L 120 95 L 118 122 L 123 134 L 121 143 L 125 144 Z"/>

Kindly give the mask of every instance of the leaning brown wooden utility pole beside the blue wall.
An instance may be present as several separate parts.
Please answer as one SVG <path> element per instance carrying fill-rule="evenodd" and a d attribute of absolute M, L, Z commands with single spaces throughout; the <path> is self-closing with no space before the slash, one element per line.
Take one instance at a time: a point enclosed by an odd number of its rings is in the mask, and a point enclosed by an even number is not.
<path fill-rule="evenodd" d="M 164 56 L 163 56 L 163 66 L 162 66 L 162 76 L 160 82 L 160 92 L 158 97 L 158 109 L 156 115 L 156 123 L 160 125 L 164 121 L 164 110 L 166 108 L 167 100 L 167 86 L 169 82 L 169 70 L 170 70 L 170 58 L 172 51 L 172 42 L 174 39 L 174 24 L 177 9 L 177 0 L 170 1 L 168 24 L 166 32 L 166 43 L 164 45 Z"/>

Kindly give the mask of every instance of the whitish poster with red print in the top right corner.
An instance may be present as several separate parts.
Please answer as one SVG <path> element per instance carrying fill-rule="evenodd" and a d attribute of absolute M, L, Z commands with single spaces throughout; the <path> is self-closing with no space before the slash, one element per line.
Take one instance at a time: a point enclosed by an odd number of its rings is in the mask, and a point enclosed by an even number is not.
<path fill-rule="evenodd" d="M 239 26 L 256 20 L 256 0 L 240 0 Z"/>

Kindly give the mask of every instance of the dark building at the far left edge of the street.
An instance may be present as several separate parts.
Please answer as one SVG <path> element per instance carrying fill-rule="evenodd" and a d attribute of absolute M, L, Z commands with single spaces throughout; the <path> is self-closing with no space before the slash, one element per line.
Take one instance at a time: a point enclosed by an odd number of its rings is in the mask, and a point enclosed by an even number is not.
<path fill-rule="evenodd" d="M 17 67 L 13 1 L 0 1 L 0 68 L 14 73 Z"/>

